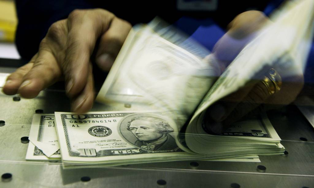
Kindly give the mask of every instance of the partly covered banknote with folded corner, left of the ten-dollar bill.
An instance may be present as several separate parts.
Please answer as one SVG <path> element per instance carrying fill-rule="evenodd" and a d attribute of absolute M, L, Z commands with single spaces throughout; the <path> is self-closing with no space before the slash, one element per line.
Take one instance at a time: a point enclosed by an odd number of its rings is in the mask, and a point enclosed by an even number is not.
<path fill-rule="evenodd" d="M 29 140 L 27 160 L 61 158 L 54 114 L 34 114 Z"/>

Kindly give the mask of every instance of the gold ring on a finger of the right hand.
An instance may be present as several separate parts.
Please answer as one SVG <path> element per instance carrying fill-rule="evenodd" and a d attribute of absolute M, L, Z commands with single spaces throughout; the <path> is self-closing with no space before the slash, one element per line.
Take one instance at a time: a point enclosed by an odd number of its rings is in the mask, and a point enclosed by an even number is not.
<path fill-rule="evenodd" d="M 262 80 L 270 95 L 280 90 L 282 85 L 281 76 L 275 69 L 268 70 L 268 75 Z"/>

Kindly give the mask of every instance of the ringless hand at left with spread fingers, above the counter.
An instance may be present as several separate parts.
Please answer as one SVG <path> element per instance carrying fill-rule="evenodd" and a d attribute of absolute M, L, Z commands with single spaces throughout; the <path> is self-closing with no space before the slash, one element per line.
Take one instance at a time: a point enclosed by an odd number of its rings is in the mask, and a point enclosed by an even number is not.
<path fill-rule="evenodd" d="M 55 22 L 42 39 L 30 62 L 8 76 L 3 92 L 34 98 L 56 81 L 64 79 L 74 112 L 86 112 L 95 98 L 91 55 L 97 48 L 96 64 L 109 71 L 131 24 L 104 9 L 74 10 Z M 96 41 L 99 39 L 99 46 Z"/>

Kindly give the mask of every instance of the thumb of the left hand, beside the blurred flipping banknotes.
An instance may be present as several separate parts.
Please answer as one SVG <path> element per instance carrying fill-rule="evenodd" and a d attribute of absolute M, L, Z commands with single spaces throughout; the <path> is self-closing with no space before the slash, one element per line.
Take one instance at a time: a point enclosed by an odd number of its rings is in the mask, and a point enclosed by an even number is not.
<path fill-rule="evenodd" d="M 110 28 L 100 38 L 96 53 L 96 64 L 101 70 L 108 72 L 111 69 L 131 27 L 120 18 L 112 20 Z"/>

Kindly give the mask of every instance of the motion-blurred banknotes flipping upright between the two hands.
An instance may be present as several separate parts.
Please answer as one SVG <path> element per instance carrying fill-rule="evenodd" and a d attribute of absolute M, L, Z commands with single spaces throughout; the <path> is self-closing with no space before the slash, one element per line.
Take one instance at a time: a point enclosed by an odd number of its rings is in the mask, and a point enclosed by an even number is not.
<path fill-rule="evenodd" d="M 141 104 L 181 128 L 220 69 L 202 46 L 157 21 L 130 31 L 96 101 Z"/>

